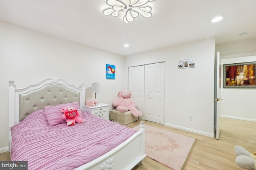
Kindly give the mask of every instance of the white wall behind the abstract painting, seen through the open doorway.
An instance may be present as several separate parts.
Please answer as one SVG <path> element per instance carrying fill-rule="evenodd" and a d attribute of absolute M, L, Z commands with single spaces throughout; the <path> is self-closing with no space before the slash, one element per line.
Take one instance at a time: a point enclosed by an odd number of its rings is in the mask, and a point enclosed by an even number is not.
<path fill-rule="evenodd" d="M 222 59 L 223 64 L 256 61 L 256 56 Z M 223 67 L 222 67 L 223 68 Z M 223 74 L 222 74 L 223 75 Z M 256 121 L 256 88 L 223 88 L 221 90 L 221 115 L 233 119 Z"/>

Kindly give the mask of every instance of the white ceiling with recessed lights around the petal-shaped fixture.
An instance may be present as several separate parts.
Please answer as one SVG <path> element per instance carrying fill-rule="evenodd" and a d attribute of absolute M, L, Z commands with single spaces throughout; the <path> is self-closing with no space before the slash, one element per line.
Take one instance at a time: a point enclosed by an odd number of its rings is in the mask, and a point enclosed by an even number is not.
<path fill-rule="evenodd" d="M 122 56 L 210 37 L 216 44 L 256 37 L 256 0 L 148 4 L 151 18 L 124 23 L 122 16 L 103 15 L 104 0 L 0 0 L 0 20 Z M 222 21 L 210 22 L 220 15 Z"/>

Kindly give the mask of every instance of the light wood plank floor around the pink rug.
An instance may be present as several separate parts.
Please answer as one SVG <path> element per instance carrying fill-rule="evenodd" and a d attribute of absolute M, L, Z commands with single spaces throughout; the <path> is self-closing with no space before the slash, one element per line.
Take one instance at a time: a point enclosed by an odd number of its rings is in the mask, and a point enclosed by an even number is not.
<path fill-rule="evenodd" d="M 180 129 L 166 127 L 150 121 L 144 122 L 146 125 L 151 125 L 197 139 L 197 143 L 190 156 L 186 170 L 244 170 L 238 167 L 235 163 L 236 154 L 234 152 L 234 146 L 240 145 L 249 152 L 256 151 L 256 122 L 222 117 L 219 140 Z M 139 123 L 140 120 L 126 126 L 132 128 Z M 0 160 L 10 160 L 10 154 L 8 152 L 0 154 Z M 170 170 L 170 168 L 146 157 L 144 164 L 135 166 L 132 170 Z"/>

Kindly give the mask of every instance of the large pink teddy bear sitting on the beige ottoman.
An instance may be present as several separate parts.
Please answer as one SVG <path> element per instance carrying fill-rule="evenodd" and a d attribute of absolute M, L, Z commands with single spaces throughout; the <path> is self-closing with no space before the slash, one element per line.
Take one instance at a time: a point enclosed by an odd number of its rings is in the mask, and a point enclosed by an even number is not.
<path fill-rule="evenodd" d="M 118 92 L 118 98 L 113 101 L 113 106 L 116 107 L 117 111 L 127 112 L 128 110 L 132 111 L 132 115 L 135 117 L 140 117 L 142 113 L 136 109 L 136 105 L 133 100 L 130 98 L 131 92 L 128 90 L 122 90 Z"/>

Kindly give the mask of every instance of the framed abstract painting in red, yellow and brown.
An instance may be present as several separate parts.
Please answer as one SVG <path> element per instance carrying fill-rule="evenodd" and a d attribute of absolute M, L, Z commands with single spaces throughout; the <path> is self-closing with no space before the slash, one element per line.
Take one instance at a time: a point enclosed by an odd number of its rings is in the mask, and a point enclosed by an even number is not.
<path fill-rule="evenodd" d="M 256 62 L 223 64 L 223 88 L 256 88 Z"/>

